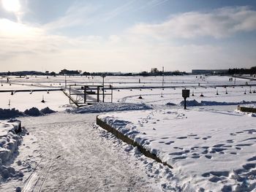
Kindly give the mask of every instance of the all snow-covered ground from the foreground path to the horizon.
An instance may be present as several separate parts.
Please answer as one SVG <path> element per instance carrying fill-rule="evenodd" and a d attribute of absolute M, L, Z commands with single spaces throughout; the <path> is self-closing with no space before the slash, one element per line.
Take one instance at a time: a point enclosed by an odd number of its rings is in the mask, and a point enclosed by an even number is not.
<path fill-rule="evenodd" d="M 102 77 L 66 78 L 67 86 L 102 84 Z M 0 77 L 1 109 L 57 111 L 19 118 L 26 128 L 18 136 L 21 145 L 0 170 L 15 170 L 17 177 L 1 180 L 0 191 L 255 191 L 255 115 L 235 110 L 238 104 L 255 105 L 256 80 L 229 78 L 165 77 L 163 89 L 162 77 L 105 77 L 105 85 L 115 88 L 113 104 L 76 109 L 62 91 L 51 91 L 65 88 L 64 76 L 9 77 L 10 82 Z M 186 111 L 184 88 L 190 90 Z M 95 126 L 102 112 L 108 112 L 103 120 L 173 169 Z"/>

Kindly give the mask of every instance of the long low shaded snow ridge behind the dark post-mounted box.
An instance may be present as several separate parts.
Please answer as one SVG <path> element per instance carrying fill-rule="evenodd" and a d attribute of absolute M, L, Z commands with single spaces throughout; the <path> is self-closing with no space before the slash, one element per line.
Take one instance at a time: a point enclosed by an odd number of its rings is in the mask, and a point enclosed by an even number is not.
<path fill-rule="evenodd" d="M 187 101 L 187 106 L 213 106 L 213 105 L 236 105 L 236 104 L 255 104 L 255 101 L 240 101 L 240 102 L 217 102 L 217 101 L 200 101 L 189 100 Z M 184 101 L 181 101 L 179 106 L 184 106 Z"/>

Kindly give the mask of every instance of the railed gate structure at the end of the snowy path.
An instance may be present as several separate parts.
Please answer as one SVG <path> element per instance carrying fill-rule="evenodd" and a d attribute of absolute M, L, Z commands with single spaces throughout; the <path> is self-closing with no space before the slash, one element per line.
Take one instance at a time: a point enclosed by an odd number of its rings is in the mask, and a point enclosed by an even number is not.
<path fill-rule="evenodd" d="M 112 85 L 69 85 L 69 104 L 113 102 Z"/>

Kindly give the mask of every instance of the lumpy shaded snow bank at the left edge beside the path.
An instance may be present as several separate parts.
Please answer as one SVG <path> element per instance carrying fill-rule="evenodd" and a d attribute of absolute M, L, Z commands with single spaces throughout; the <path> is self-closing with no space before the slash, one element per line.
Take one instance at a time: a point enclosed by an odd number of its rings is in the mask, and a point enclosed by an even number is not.
<path fill-rule="evenodd" d="M 18 134 L 19 131 L 21 131 L 20 120 L 0 121 L 0 183 L 10 177 L 23 177 L 22 172 L 4 165 L 12 161 L 18 153 L 18 146 L 22 141 L 22 137 Z"/>

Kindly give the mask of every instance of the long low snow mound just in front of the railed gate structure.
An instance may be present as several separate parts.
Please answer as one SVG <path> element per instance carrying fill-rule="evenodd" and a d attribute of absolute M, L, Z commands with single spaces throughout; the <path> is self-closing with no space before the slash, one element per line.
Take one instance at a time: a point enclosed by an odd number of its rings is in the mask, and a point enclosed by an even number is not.
<path fill-rule="evenodd" d="M 150 110 L 146 104 L 127 104 L 127 103 L 99 103 L 89 105 L 78 110 L 77 113 L 94 113 L 94 112 L 112 112 L 112 111 L 127 111 L 127 110 Z M 70 111 L 69 111 L 70 112 Z"/>

